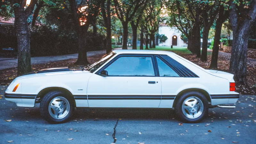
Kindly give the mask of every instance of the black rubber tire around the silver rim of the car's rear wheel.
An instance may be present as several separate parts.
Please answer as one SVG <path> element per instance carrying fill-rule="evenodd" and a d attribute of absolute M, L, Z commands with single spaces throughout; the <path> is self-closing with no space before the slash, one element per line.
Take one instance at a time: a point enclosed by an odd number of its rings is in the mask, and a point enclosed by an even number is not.
<path fill-rule="evenodd" d="M 203 103 L 202 114 L 197 118 L 188 118 L 187 116 L 185 116 L 185 114 L 183 114 L 182 104 L 183 104 L 184 100 L 186 100 L 189 97 L 196 97 L 196 98 L 200 99 Z M 202 93 L 200 93 L 200 92 L 187 92 L 187 93 L 184 93 L 183 95 L 181 95 L 180 98 L 178 99 L 178 101 L 176 103 L 176 107 L 175 107 L 175 112 L 176 112 L 178 118 L 182 122 L 198 123 L 198 122 L 202 121 L 204 119 L 204 117 L 207 115 L 208 109 L 209 109 L 208 108 L 208 101 Z"/>

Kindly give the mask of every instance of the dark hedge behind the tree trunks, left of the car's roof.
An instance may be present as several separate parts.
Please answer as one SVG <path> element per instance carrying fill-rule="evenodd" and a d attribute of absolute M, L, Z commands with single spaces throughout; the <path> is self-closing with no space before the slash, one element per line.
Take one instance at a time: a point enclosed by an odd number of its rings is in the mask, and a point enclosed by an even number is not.
<path fill-rule="evenodd" d="M 1 36 L 2 37 L 2 36 Z M 88 32 L 85 47 L 88 51 L 96 51 L 105 49 L 105 36 L 94 35 Z M 2 47 L 15 48 L 14 56 L 17 55 L 17 40 L 16 36 L 5 36 L 1 38 L 0 49 Z M 49 56 L 77 53 L 78 43 L 75 34 L 62 34 L 54 31 L 46 26 L 30 29 L 30 52 L 31 56 Z M 9 55 L 5 52 L 0 52 L 0 55 Z"/>

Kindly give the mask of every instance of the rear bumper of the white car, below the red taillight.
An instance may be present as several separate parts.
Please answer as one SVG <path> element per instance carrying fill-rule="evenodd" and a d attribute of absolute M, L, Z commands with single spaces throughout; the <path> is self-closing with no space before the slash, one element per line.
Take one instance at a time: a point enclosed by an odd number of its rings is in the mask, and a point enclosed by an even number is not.
<path fill-rule="evenodd" d="M 211 104 L 213 106 L 234 104 L 239 99 L 239 94 L 212 94 L 211 99 Z"/>

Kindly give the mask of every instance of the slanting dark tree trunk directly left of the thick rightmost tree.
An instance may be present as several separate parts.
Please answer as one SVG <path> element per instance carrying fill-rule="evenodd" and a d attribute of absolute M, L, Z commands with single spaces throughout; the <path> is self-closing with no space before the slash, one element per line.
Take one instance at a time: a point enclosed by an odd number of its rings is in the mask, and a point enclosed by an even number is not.
<path fill-rule="evenodd" d="M 214 41 L 212 47 L 212 60 L 210 64 L 211 69 L 218 69 L 218 55 L 219 55 L 219 44 L 220 44 L 220 34 L 221 34 L 221 27 L 222 27 L 222 18 L 218 18 L 215 25 L 215 34 L 214 34 Z"/>

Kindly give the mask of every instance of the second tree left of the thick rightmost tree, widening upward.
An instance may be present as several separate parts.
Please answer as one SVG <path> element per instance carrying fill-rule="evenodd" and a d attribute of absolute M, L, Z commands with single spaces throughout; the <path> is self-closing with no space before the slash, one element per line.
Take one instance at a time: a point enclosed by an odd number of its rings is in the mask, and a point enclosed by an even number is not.
<path fill-rule="evenodd" d="M 207 61 L 207 45 L 208 45 L 208 35 L 210 28 L 216 18 L 216 15 L 219 11 L 219 3 L 215 2 L 212 3 L 211 1 L 206 1 L 203 6 L 203 43 L 202 43 L 202 54 L 201 54 L 201 60 Z"/>

